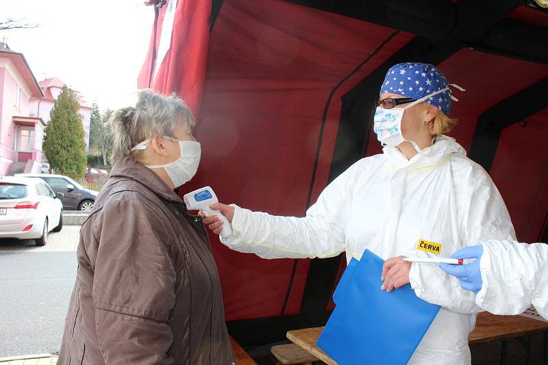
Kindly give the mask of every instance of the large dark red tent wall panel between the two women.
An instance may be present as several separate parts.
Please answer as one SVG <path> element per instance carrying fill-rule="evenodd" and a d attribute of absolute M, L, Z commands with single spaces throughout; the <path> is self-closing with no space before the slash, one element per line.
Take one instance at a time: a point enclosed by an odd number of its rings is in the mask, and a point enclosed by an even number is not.
<path fill-rule="evenodd" d="M 301 216 L 306 211 L 321 120 L 332 89 L 393 29 L 285 1 L 225 0 L 210 37 L 196 137 L 199 173 L 224 202 Z M 412 36 L 399 33 L 336 90 L 325 120 L 314 196 L 327 185 L 340 97 Z M 213 236 L 227 320 L 281 314 L 293 260 L 230 252 Z M 308 273 L 299 260 L 284 314 L 299 312 Z"/>

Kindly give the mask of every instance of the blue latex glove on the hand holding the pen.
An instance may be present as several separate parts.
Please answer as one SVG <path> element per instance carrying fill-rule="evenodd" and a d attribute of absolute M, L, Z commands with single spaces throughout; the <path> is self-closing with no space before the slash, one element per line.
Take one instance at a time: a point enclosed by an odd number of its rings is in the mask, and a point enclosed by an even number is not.
<path fill-rule="evenodd" d="M 475 261 L 466 265 L 440 264 L 443 271 L 449 275 L 456 276 L 460 286 L 464 290 L 470 290 L 477 293 L 482 289 L 482 273 L 479 272 L 479 258 L 484 253 L 483 246 L 469 246 L 459 249 L 452 258 L 475 258 Z"/>

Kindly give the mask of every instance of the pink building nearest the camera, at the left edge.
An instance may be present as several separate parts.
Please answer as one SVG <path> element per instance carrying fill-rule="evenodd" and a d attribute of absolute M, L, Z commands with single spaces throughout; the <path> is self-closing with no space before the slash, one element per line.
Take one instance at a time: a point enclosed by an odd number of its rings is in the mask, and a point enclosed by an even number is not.
<path fill-rule="evenodd" d="M 12 165 L 25 172 L 40 171 L 46 123 L 31 116 L 31 100 L 43 97 L 23 54 L 0 43 L 1 176 L 8 174 Z"/>

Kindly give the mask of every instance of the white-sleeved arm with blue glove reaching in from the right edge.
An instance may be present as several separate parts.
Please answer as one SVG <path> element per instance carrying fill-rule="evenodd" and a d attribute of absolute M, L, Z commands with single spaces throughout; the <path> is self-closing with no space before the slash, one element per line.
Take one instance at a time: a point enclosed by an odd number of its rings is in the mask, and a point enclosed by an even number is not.
<path fill-rule="evenodd" d="M 475 258 L 466 265 L 440 264 L 477 293 L 475 303 L 493 314 L 520 314 L 531 304 L 548 319 L 548 245 L 488 240 L 460 249 L 454 258 Z"/>

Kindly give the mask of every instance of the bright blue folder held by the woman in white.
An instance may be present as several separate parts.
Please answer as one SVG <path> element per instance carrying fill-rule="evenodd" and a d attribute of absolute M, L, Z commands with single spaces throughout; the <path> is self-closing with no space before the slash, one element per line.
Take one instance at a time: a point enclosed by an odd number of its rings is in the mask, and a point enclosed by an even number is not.
<path fill-rule="evenodd" d="M 333 294 L 335 310 L 316 344 L 341 365 L 407 364 L 440 306 L 409 284 L 381 290 L 384 260 L 365 250 L 352 258 Z"/>

